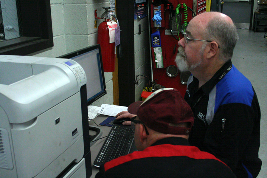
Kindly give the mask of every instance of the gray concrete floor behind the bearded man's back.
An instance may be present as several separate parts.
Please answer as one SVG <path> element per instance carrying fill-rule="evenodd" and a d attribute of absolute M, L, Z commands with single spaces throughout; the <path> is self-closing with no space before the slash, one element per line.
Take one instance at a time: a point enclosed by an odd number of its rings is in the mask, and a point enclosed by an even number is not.
<path fill-rule="evenodd" d="M 232 63 L 252 83 L 261 110 L 259 157 L 263 164 L 258 178 L 267 177 L 267 39 L 266 32 L 237 29 L 239 40 L 234 49 Z"/>

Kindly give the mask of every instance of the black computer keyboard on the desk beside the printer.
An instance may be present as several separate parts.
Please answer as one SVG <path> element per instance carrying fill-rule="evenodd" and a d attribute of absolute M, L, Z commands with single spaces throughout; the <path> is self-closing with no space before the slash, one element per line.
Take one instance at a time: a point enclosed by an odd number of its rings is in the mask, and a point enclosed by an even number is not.
<path fill-rule="evenodd" d="M 134 131 L 131 129 L 131 126 L 113 124 L 105 143 L 94 161 L 94 166 L 100 167 L 105 162 L 133 151 L 136 151 L 136 147 L 134 144 Z"/>

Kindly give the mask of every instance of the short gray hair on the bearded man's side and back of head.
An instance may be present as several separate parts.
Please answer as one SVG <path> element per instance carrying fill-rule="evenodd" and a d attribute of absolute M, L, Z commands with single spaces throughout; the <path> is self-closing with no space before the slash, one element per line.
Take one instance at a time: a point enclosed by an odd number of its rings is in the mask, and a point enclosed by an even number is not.
<path fill-rule="evenodd" d="M 234 24 L 215 16 L 207 24 L 204 36 L 205 39 L 218 43 L 221 61 L 226 62 L 232 58 L 235 44 L 238 40 L 238 34 Z"/>

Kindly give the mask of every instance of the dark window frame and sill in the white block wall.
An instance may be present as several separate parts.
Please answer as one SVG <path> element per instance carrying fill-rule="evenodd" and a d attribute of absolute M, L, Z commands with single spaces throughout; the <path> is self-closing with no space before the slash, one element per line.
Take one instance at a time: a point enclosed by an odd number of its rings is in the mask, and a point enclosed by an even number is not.
<path fill-rule="evenodd" d="M 27 55 L 53 47 L 50 0 L 22 0 L 18 5 L 23 37 L 1 41 L 0 55 Z"/>

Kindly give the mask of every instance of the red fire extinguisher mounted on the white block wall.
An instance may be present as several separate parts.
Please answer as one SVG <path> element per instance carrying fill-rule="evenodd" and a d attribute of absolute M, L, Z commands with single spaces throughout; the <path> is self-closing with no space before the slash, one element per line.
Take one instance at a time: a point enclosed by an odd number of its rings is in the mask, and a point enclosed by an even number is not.
<path fill-rule="evenodd" d="M 101 54 L 103 60 L 104 72 L 115 71 L 115 43 L 110 43 L 109 29 L 107 22 L 111 21 L 109 9 L 105 8 L 105 13 L 102 14 L 102 18 L 105 18 L 97 29 L 97 44 L 100 44 Z M 105 16 L 105 17 L 103 17 Z"/>

